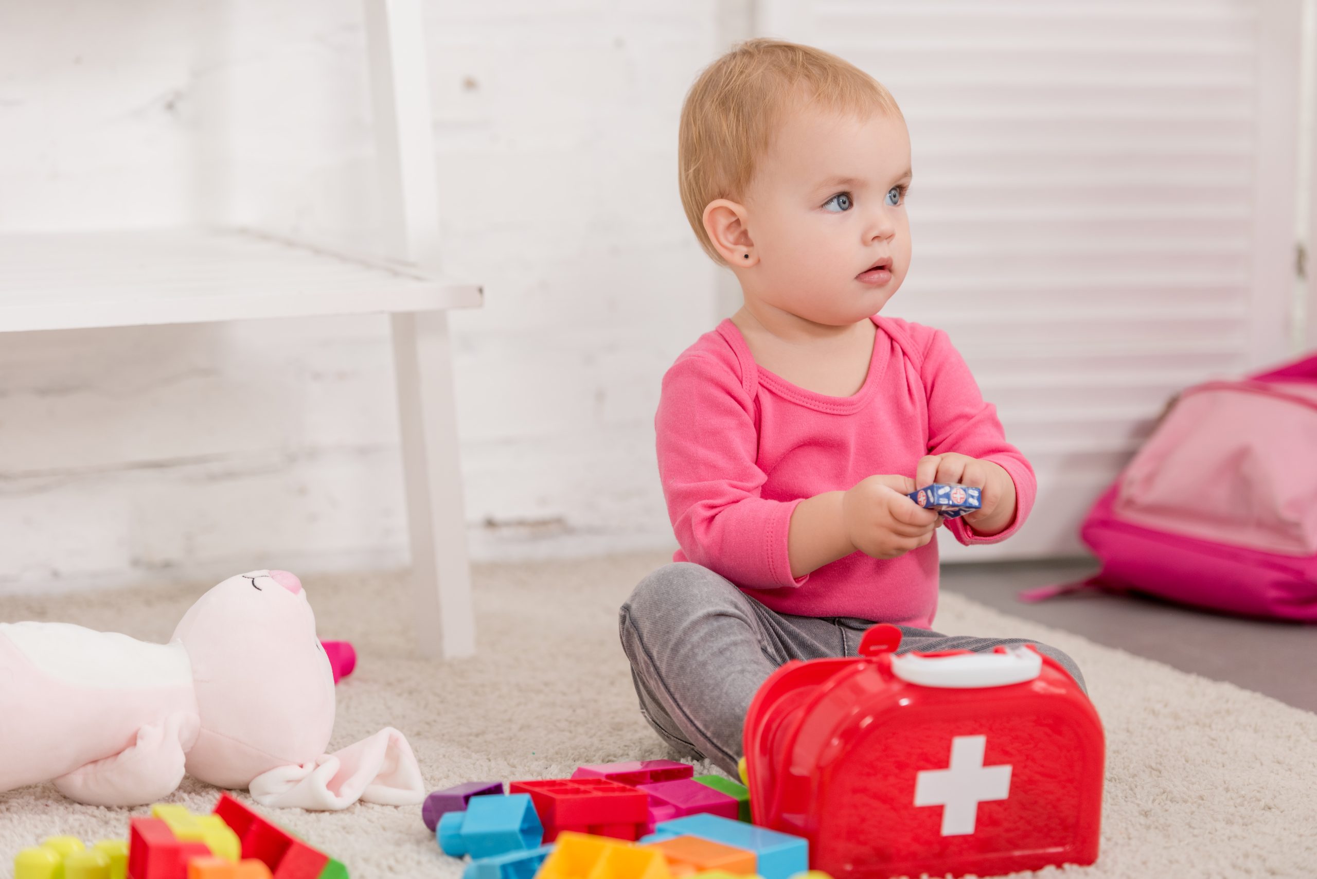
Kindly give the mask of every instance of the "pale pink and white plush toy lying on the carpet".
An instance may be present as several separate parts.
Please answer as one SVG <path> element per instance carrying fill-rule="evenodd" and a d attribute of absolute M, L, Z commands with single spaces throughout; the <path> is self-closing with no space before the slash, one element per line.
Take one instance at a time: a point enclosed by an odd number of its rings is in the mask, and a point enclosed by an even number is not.
<path fill-rule="evenodd" d="M 163 645 L 0 624 L 0 791 L 54 780 L 80 803 L 138 805 L 169 796 L 186 771 L 263 805 L 424 799 L 395 729 L 325 754 L 333 716 L 315 615 L 287 571 L 224 580 Z"/>

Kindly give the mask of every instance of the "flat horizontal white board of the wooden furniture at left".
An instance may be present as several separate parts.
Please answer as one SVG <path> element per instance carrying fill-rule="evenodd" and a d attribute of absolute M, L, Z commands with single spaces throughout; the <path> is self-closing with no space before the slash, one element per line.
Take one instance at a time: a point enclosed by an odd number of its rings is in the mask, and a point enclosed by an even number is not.
<path fill-rule="evenodd" d="M 0 333 L 481 304 L 431 278 L 241 229 L 0 234 Z"/>

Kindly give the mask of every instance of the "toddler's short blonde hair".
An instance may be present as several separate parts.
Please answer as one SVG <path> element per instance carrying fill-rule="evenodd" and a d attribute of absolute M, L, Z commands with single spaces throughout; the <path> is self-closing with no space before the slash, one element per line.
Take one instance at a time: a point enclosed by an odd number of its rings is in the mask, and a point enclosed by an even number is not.
<path fill-rule="evenodd" d="M 811 46 L 749 39 L 706 67 L 681 108 L 677 170 L 686 220 L 714 262 L 724 261 L 705 230 L 705 207 L 715 199 L 741 197 L 768 153 L 782 111 L 793 103 L 901 117 L 901 108 L 881 83 Z"/>

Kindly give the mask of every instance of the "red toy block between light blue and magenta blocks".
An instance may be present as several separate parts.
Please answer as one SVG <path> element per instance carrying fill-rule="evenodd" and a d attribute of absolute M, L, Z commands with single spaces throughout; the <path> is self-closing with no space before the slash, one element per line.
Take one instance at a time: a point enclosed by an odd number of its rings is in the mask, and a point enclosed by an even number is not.
<path fill-rule="evenodd" d="M 508 791 L 531 795 L 545 842 L 564 830 L 630 842 L 649 829 L 649 795 L 605 778 L 512 782 Z"/>

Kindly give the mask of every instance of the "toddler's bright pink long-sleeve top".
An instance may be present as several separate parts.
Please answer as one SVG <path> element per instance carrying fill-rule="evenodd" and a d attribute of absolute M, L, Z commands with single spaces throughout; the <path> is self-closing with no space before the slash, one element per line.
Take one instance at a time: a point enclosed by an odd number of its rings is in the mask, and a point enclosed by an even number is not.
<path fill-rule="evenodd" d="M 961 543 L 992 543 L 1025 522 L 1036 483 L 944 332 L 872 320 L 869 372 L 848 397 L 760 368 L 730 320 L 677 358 L 655 417 L 658 475 L 681 547 L 673 559 L 716 571 L 780 613 L 930 628 L 936 541 L 894 559 L 852 553 L 793 578 L 795 505 L 874 474 L 914 476 L 923 455 L 959 451 L 1001 465 L 1015 483 L 1015 518 L 1005 532 L 980 537 L 964 520 L 947 522 Z"/>

